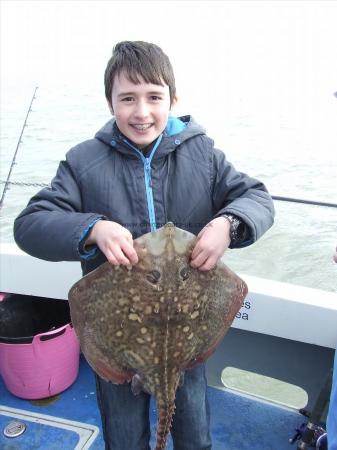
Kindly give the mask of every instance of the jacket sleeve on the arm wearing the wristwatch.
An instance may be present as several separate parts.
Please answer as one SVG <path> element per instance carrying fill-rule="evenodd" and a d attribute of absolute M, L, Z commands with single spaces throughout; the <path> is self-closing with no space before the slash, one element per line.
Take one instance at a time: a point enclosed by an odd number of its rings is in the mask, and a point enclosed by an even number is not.
<path fill-rule="evenodd" d="M 274 204 L 263 183 L 235 170 L 220 150 L 213 153 L 213 204 L 215 217 L 234 214 L 247 227 L 247 237 L 235 247 L 259 239 L 274 222 Z"/>

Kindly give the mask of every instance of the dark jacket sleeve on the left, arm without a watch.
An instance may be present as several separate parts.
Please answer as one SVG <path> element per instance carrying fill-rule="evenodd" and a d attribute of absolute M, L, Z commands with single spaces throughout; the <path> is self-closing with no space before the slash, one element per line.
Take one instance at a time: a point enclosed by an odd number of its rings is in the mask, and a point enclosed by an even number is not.
<path fill-rule="evenodd" d="M 81 192 L 67 161 L 59 165 L 51 187 L 42 189 L 14 222 L 14 238 L 28 254 L 47 261 L 77 261 L 79 243 L 99 214 L 82 212 Z"/>

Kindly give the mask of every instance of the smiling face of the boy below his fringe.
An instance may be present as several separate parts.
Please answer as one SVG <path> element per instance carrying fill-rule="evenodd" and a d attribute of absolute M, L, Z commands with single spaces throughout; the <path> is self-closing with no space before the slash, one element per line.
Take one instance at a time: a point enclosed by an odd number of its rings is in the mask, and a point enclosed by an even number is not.
<path fill-rule="evenodd" d="M 164 131 L 170 111 L 170 90 L 164 84 L 134 84 L 122 72 L 112 87 L 111 105 L 120 131 L 139 148 Z M 175 103 L 175 100 L 174 102 Z"/>

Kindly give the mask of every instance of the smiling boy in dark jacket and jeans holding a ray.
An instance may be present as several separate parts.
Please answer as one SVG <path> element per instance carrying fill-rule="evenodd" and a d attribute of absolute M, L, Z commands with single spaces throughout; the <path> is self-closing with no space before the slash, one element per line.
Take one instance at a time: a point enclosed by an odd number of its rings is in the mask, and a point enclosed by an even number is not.
<path fill-rule="evenodd" d="M 191 265 L 212 269 L 228 247 L 256 241 L 273 223 L 271 197 L 237 172 L 190 116 L 169 117 L 176 90 L 168 57 L 154 44 L 120 42 L 105 71 L 114 120 L 70 150 L 51 188 L 15 221 L 26 252 L 80 260 L 138 262 L 133 239 L 167 222 L 198 235 Z M 149 396 L 96 376 L 106 449 L 149 449 Z M 175 450 L 211 448 L 204 366 L 186 371 L 171 434 Z"/>

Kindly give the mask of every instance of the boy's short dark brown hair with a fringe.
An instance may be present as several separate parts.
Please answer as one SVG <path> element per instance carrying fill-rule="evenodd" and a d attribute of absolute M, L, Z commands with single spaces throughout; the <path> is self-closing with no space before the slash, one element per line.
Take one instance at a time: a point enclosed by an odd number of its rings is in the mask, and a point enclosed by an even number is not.
<path fill-rule="evenodd" d="M 160 47 L 143 41 L 122 41 L 115 45 L 104 74 L 105 97 L 111 105 L 111 94 L 116 75 L 125 72 L 132 83 L 163 85 L 170 89 L 171 104 L 176 95 L 172 65 Z"/>

